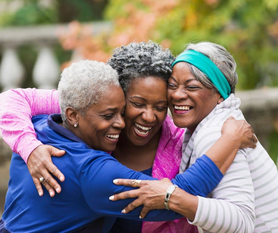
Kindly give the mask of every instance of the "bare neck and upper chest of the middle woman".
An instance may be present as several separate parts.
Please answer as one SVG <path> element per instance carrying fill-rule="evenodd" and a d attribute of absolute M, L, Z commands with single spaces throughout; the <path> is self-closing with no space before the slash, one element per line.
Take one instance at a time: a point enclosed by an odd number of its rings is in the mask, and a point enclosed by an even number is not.
<path fill-rule="evenodd" d="M 132 144 L 125 135 L 121 134 L 114 150 L 115 158 L 123 165 L 135 171 L 143 171 L 153 166 L 162 128 L 151 140 L 142 146 Z"/>

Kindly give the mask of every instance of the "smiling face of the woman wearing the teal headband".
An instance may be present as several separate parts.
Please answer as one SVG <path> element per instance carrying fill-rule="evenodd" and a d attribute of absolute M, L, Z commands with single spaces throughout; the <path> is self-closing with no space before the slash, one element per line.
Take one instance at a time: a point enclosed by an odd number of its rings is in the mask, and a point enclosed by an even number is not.
<path fill-rule="evenodd" d="M 219 93 L 206 88 L 191 74 L 186 62 L 174 65 L 168 80 L 167 99 L 174 124 L 188 128 L 191 133 L 223 101 Z"/>

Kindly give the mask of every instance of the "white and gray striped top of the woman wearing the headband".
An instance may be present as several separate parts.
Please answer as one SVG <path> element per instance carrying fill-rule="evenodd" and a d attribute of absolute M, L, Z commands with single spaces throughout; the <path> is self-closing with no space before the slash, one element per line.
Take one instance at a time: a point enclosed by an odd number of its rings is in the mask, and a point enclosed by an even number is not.
<path fill-rule="evenodd" d="M 200 122 L 191 135 L 186 129 L 180 173 L 202 156 L 221 135 L 228 116 L 244 119 L 240 99 L 231 94 Z M 258 142 L 239 150 L 210 198 L 198 196 L 193 225 L 204 232 L 278 232 L 278 172 Z"/>

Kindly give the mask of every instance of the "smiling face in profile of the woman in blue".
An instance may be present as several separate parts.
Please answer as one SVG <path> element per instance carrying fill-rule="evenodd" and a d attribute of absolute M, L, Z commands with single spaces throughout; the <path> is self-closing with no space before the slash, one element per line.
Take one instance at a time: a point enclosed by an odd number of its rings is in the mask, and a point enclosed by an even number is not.
<path fill-rule="evenodd" d="M 75 134 L 95 150 L 113 151 L 125 127 L 124 111 L 124 92 L 113 85 L 101 101 L 90 106 L 84 117 L 78 117 Z"/>

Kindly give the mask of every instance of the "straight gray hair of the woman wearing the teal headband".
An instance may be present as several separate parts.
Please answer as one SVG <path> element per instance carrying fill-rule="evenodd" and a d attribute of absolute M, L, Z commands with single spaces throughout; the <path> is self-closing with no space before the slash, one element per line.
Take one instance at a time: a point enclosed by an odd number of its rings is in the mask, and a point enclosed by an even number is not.
<path fill-rule="evenodd" d="M 226 77 L 229 85 L 231 87 L 231 93 L 235 93 L 235 85 L 237 84 L 237 72 L 235 59 L 223 46 L 211 42 L 199 42 L 199 43 L 189 43 L 186 50 L 195 50 L 204 55 L 206 55 L 211 61 L 216 64 L 218 69 Z M 196 77 L 196 79 L 203 83 L 207 88 L 214 89 L 217 92 L 216 87 L 208 80 L 206 75 L 201 72 L 197 67 L 188 63 L 190 72 Z"/>

